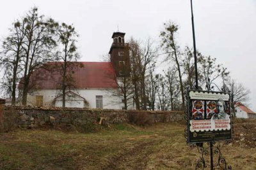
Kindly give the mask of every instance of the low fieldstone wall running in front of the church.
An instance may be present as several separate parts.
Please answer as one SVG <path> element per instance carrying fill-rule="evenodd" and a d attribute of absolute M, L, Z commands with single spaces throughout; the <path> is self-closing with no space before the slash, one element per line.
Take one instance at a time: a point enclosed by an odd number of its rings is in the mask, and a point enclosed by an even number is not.
<path fill-rule="evenodd" d="M 98 110 L 85 108 L 30 108 L 6 107 L 3 111 L 2 131 L 16 127 L 56 129 L 76 129 L 93 131 L 95 125 L 132 123 L 150 125 L 155 122 L 184 121 L 182 111 L 138 111 L 138 110 Z"/>

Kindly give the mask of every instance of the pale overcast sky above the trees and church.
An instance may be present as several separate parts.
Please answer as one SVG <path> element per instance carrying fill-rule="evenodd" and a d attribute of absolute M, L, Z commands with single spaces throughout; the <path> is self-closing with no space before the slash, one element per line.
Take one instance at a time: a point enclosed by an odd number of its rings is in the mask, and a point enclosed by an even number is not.
<path fill-rule="evenodd" d="M 256 0 L 195 0 L 196 48 L 216 57 L 232 78 L 251 90 L 250 107 L 256 111 Z M 179 45 L 192 46 L 189 0 L 8 0 L 0 6 L 0 38 L 8 35 L 15 18 L 33 6 L 54 20 L 74 24 L 83 61 L 100 61 L 109 52 L 113 32 L 125 39 L 159 41 L 163 23 L 179 25 Z"/>

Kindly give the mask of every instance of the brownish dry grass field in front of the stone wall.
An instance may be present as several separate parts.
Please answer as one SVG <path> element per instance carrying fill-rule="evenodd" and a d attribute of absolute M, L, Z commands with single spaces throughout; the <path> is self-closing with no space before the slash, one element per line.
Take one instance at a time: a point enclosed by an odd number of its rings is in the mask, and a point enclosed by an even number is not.
<path fill-rule="evenodd" d="M 237 122 L 234 142 L 221 149 L 233 169 L 256 169 L 256 139 L 246 138 L 246 127 L 255 134 L 256 120 Z M 0 134 L 1 170 L 195 169 L 199 157 L 186 145 L 180 124 L 120 124 L 88 134 L 34 129 Z"/>

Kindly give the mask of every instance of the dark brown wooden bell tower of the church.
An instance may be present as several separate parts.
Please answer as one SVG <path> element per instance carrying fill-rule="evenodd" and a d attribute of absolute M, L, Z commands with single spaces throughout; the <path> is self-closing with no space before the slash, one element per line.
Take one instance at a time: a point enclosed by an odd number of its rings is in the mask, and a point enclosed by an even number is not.
<path fill-rule="evenodd" d="M 129 45 L 124 41 L 124 32 L 113 32 L 113 43 L 109 50 L 110 61 L 116 77 L 130 77 Z"/>

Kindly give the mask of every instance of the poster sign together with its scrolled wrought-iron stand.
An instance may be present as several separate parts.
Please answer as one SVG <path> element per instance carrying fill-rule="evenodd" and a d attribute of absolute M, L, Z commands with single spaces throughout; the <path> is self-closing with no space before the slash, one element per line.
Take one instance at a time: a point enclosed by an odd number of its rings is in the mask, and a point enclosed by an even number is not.
<path fill-rule="evenodd" d="M 200 90 L 186 90 L 185 120 L 188 126 L 185 129 L 185 138 L 191 147 L 196 147 L 201 157 L 197 160 L 195 169 L 214 167 L 232 169 L 221 153 L 221 146 L 228 145 L 232 139 L 232 111 L 230 107 L 230 94 L 227 92 L 211 92 Z M 202 97 L 202 99 L 199 99 Z M 219 99 L 222 98 L 222 99 Z M 223 103 L 221 103 L 223 102 Z M 218 113 L 220 104 L 225 106 L 225 113 Z M 224 110 L 224 108 L 223 108 Z M 227 114 L 224 117 L 224 114 Z M 222 116 L 222 117 L 221 117 Z M 214 118 L 216 117 L 216 120 Z M 217 141 L 224 141 L 217 143 Z M 204 143 L 207 143 L 204 146 Z M 214 164 L 214 155 L 218 157 Z M 210 156 L 210 164 L 207 157 Z M 209 160 L 209 159 L 208 159 Z"/>

